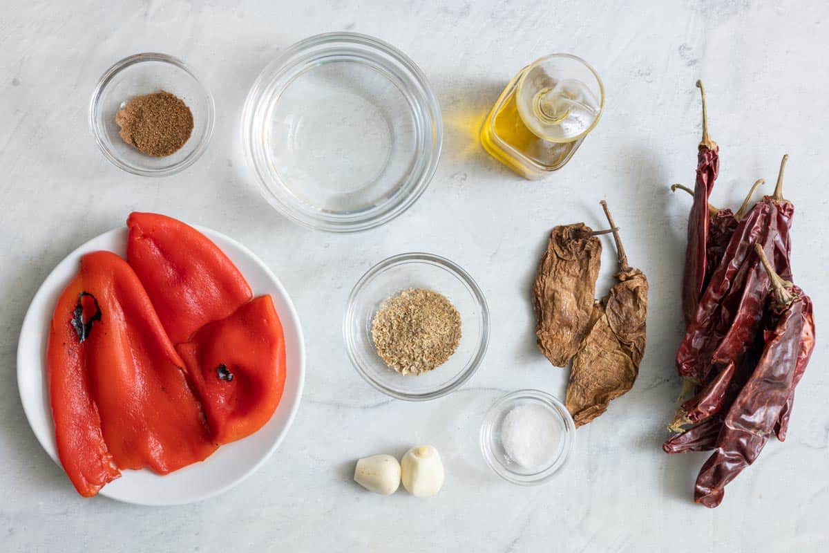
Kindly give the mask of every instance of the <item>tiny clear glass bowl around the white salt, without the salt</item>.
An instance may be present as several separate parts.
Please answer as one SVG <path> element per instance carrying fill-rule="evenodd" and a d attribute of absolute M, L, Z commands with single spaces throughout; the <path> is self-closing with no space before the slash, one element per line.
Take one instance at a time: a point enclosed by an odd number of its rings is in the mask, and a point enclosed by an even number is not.
<path fill-rule="evenodd" d="M 501 426 L 507 414 L 519 405 L 543 407 L 549 411 L 550 419 L 555 420 L 554 424 L 558 426 L 555 430 L 561 436 L 559 448 L 544 468 L 527 470 L 513 461 L 504 450 Z M 480 442 L 483 458 L 498 476 L 521 486 L 533 486 L 552 478 L 555 471 L 565 464 L 570 450 L 573 449 L 574 440 L 575 423 L 573 417 L 570 416 L 570 411 L 555 397 L 541 390 L 517 390 L 504 395 L 492 404 L 481 424 Z"/>

